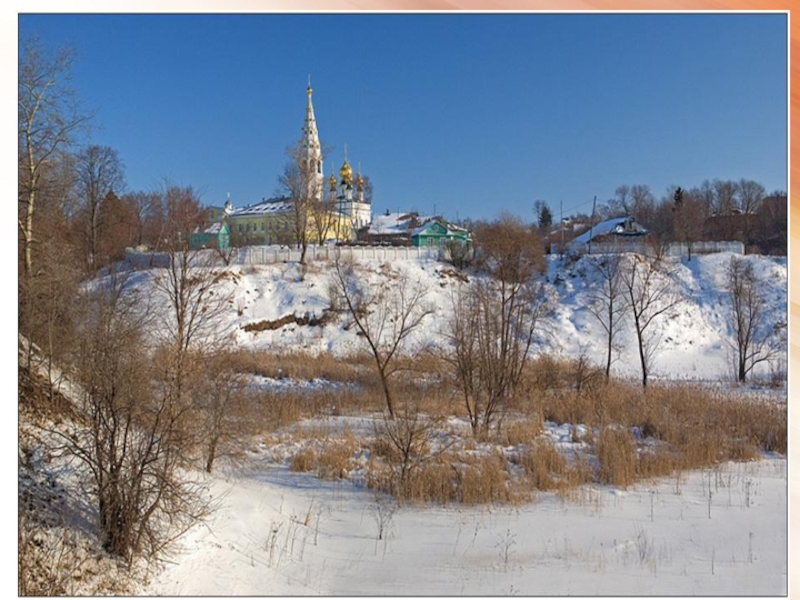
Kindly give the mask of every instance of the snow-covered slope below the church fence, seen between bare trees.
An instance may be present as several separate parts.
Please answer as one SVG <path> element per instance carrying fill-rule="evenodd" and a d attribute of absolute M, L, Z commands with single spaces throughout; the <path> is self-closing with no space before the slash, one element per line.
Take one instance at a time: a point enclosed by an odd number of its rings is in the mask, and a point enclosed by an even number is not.
<path fill-rule="evenodd" d="M 769 323 L 786 322 L 786 258 L 747 256 L 754 266 L 767 298 Z M 577 261 L 549 257 L 548 287 L 555 300 L 550 333 L 539 340 L 535 350 L 560 356 L 585 353 L 598 365 L 605 360 L 605 332 L 586 309 L 592 289 L 602 284 L 587 258 Z M 654 360 L 654 377 L 669 379 L 731 379 L 729 352 L 732 341 L 730 309 L 725 292 L 725 270 L 731 260 L 728 253 L 694 256 L 691 261 L 665 259 L 673 271 L 676 292 L 683 301 L 674 314 L 660 319 L 653 327 L 660 341 Z M 223 326 L 242 347 L 291 349 L 309 353 L 327 352 L 347 355 L 364 350 L 365 346 L 348 328 L 346 317 L 325 324 L 299 325 L 288 323 L 276 329 L 263 325 L 279 319 L 310 316 L 319 319 L 331 306 L 331 264 L 312 262 L 301 280 L 296 263 L 266 266 L 228 267 L 229 276 L 221 283 L 220 293 L 232 300 Z M 403 260 L 387 264 L 380 260 L 359 263 L 363 280 L 371 286 L 396 285 L 406 277 L 426 290 L 425 304 L 433 309 L 424 327 L 408 340 L 406 351 L 441 343 L 441 332 L 451 312 L 451 294 L 463 283 L 468 271 L 456 272 L 452 266 L 433 260 Z M 138 273 L 139 285 L 147 288 L 159 270 Z M 158 296 L 151 291 L 154 300 Z M 163 301 L 163 299 L 162 299 Z M 262 327 L 259 327 L 261 325 Z M 247 331 L 245 328 L 251 328 Z M 613 370 L 621 376 L 638 375 L 638 354 L 630 321 L 622 324 L 620 354 Z M 780 367 L 778 367 L 780 368 Z M 785 365 L 782 367 L 785 371 Z M 763 366 L 760 373 L 768 374 Z"/>

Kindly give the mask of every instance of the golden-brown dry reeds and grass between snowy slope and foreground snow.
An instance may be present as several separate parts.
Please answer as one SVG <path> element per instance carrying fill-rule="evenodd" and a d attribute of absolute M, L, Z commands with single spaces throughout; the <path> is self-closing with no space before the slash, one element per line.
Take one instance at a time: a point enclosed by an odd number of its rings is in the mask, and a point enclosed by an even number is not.
<path fill-rule="evenodd" d="M 269 430 L 331 414 L 383 411 L 369 357 L 334 360 L 303 355 L 247 358 L 250 372 L 297 379 L 325 377 L 354 383 L 314 393 L 264 394 L 259 410 Z M 369 450 L 364 481 L 374 490 L 412 504 L 519 504 L 536 491 L 574 497 L 589 482 L 627 487 L 637 480 L 703 468 L 726 460 L 753 460 L 763 451 L 786 453 L 784 408 L 726 396 L 709 388 L 674 384 L 642 388 L 636 382 L 585 377 L 575 361 L 543 357 L 532 362 L 523 391 L 509 403 L 502 428 L 479 439 L 467 428 L 445 425 L 463 418 L 460 397 L 430 355 L 409 359 L 393 379 L 396 402 L 412 405 L 437 423 L 430 440 L 402 456 L 377 428 L 369 439 L 352 433 L 294 429 L 314 440 L 291 468 L 323 478 L 346 477 L 361 448 Z M 542 439 L 544 422 L 582 424 L 582 449 L 565 454 Z M 427 435 L 427 434 L 426 434 Z M 578 440 L 573 440 L 578 441 Z M 411 461 L 411 464 L 409 461 Z"/>

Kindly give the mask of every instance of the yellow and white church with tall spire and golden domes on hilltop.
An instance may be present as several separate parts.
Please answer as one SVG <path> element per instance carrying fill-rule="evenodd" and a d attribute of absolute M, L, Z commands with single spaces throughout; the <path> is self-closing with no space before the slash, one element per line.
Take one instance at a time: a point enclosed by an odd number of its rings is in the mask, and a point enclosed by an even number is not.
<path fill-rule="evenodd" d="M 331 173 L 325 180 L 312 93 L 309 79 L 306 115 L 297 146 L 298 180 L 294 185 L 289 182 L 287 195 L 241 208 L 234 208 L 230 200 L 226 203 L 224 212 L 235 245 L 293 245 L 303 227 L 309 244 L 351 241 L 356 231 L 372 220 L 372 205 L 365 197 L 365 179 L 360 168 L 353 176 L 346 146 L 338 179 Z"/>

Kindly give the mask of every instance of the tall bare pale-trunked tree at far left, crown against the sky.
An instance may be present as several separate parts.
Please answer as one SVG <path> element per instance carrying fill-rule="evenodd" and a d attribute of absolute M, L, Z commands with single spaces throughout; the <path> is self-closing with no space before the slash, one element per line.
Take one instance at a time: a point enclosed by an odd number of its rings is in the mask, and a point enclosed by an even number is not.
<path fill-rule="evenodd" d="M 22 41 L 17 83 L 17 144 L 19 159 L 19 231 L 23 272 L 33 273 L 33 245 L 37 242 L 39 193 L 61 150 L 85 126 L 83 114 L 69 87 L 73 51 L 69 47 L 49 54 L 35 38 Z"/>

